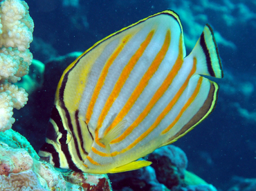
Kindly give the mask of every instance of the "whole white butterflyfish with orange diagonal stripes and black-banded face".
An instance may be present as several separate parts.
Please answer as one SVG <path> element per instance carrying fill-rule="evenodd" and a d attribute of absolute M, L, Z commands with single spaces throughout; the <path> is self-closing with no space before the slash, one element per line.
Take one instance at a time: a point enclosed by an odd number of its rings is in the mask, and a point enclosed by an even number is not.
<path fill-rule="evenodd" d="M 210 25 L 186 55 L 178 14 L 165 10 L 95 43 L 58 83 L 39 156 L 57 168 L 107 174 L 190 132 L 214 110 L 222 78 Z"/>

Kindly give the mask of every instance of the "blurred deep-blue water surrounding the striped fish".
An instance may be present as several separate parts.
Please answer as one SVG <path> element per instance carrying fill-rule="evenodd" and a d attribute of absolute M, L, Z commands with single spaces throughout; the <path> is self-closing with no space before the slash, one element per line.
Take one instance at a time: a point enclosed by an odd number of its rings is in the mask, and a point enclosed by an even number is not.
<path fill-rule="evenodd" d="M 224 71 L 223 79 L 214 79 L 220 86 L 214 112 L 174 145 L 187 155 L 187 169 L 218 190 L 228 190 L 239 177 L 256 177 L 255 1 L 26 2 L 35 23 L 30 51 L 34 59 L 45 64 L 45 70 L 36 74 L 37 89 L 29 94 L 28 104 L 15 111 L 12 129 L 23 134 L 36 151 L 44 143 L 57 82 L 79 53 L 68 59 L 61 56 L 84 52 L 107 35 L 170 9 L 181 19 L 187 54 L 205 23 L 212 26 Z M 30 75 L 35 75 L 33 71 L 30 68 Z"/>

